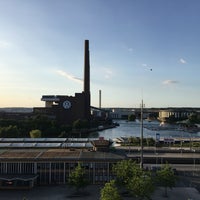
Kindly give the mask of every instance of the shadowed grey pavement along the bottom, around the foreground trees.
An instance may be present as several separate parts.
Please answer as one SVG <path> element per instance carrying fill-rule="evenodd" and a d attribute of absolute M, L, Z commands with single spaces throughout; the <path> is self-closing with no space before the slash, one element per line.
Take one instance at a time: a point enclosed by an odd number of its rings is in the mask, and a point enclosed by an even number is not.
<path fill-rule="evenodd" d="M 102 186 L 90 185 L 85 196 L 73 197 L 74 190 L 66 185 L 40 186 L 31 190 L 0 190 L 0 200 L 99 200 Z M 168 197 L 164 197 L 164 188 L 157 188 L 152 200 L 199 200 L 200 193 L 192 187 L 175 187 L 168 189 Z M 123 200 L 137 198 L 123 197 Z"/>

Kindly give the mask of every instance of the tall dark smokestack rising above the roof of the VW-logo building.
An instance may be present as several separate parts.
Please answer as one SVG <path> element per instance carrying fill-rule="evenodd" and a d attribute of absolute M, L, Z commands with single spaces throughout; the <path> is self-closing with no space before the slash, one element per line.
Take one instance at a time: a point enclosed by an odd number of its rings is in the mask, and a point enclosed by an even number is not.
<path fill-rule="evenodd" d="M 84 55 L 84 92 L 90 93 L 90 52 L 89 40 L 85 40 L 85 55 Z"/>

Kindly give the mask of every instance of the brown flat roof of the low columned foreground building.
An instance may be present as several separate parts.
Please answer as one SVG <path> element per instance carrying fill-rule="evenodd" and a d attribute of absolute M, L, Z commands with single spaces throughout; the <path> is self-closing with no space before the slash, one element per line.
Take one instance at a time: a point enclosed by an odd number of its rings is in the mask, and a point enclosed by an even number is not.
<path fill-rule="evenodd" d="M 118 160 L 125 156 L 112 152 L 93 152 L 87 149 L 2 149 L 0 151 L 1 160 Z"/>

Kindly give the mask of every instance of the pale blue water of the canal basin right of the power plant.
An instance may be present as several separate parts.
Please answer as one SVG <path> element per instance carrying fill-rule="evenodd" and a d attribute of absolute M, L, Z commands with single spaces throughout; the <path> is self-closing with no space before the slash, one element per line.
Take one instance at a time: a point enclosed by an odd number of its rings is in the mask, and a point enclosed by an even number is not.
<path fill-rule="evenodd" d="M 112 128 L 112 129 L 107 129 L 104 131 L 99 131 L 98 133 L 92 133 L 90 137 L 104 137 L 105 139 L 114 139 L 117 137 L 130 137 L 130 136 L 140 137 L 141 126 L 140 126 L 139 121 L 126 122 L 124 120 L 117 120 L 116 122 L 119 123 L 120 126 L 117 126 L 116 128 Z M 145 127 L 150 127 L 150 129 L 147 129 Z M 144 129 L 143 129 L 144 137 L 155 138 L 156 133 L 159 133 L 160 137 L 165 137 L 165 138 L 200 137 L 200 132 L 188 133 L 188 132 L 184 132 L 178 129 L 177 130 L 155 130 L 156 127 L 159 128 L 159 122 L 144 121 Z"/>

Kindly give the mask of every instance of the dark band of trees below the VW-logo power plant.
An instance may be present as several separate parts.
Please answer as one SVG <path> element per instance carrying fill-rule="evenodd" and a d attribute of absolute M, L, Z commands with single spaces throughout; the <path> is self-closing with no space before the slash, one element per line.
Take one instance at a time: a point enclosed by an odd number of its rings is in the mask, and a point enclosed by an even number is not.
<path fill-rule="evenodd" d="M 40 131 L 40 134 L 32 134 L 32 137 L 72 137 L 73 129 L 80 130 L 88 127 L 87 120 L 78 119 L 71 125 L 60 125 L 56 120 L 43 115 L 23 120 L 0 119 L 0 137 L 26 138 L 34 131 Z"/>

